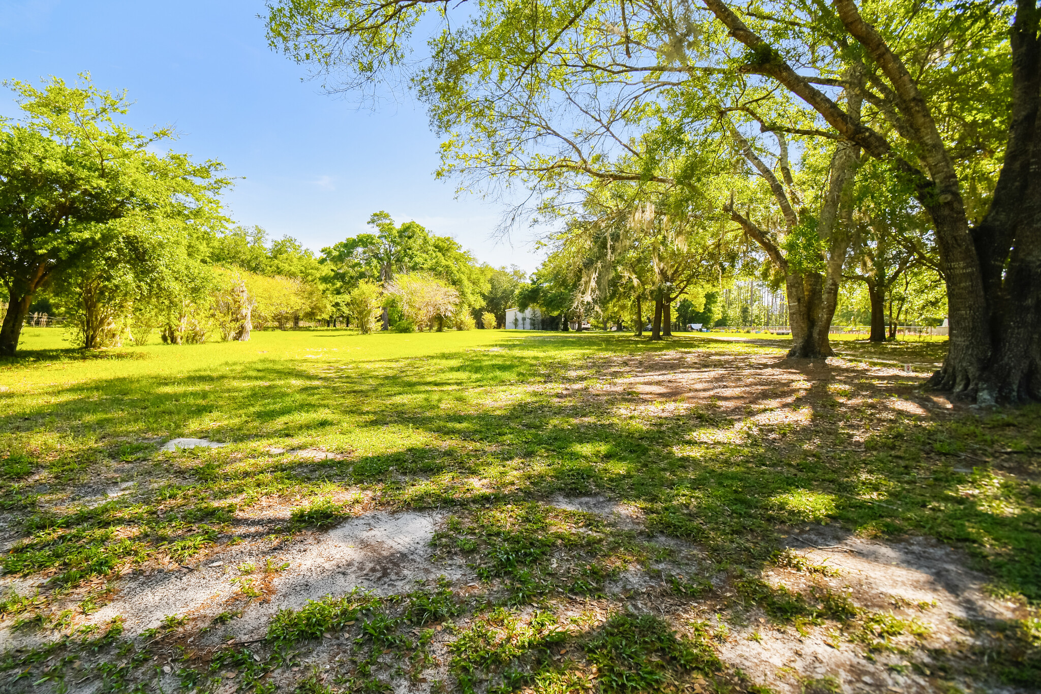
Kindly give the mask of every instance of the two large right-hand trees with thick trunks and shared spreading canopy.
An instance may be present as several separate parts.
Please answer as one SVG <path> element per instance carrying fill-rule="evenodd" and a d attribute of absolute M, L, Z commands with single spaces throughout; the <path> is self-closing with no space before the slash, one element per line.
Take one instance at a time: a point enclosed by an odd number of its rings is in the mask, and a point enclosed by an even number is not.
<path fill-rule="evenodd" d="M 831 353 L 864 249 L 857 180 L 877 162 L 931 227 L 947 287 L 932 384 L 991 403 L 1041 397 L 1039 15 L 1036 0 L 278 0 L 268 28 L 329 88 L 403 80 L 442 134 L 441 175 L 518 183 L 542 210 L 596 181 L 704 188 L 704 169 L 675 151 L 663 166 L 654 145 L 715 133 L 744 181 L 714 206 L 786 278 L 793 357 Z"/>

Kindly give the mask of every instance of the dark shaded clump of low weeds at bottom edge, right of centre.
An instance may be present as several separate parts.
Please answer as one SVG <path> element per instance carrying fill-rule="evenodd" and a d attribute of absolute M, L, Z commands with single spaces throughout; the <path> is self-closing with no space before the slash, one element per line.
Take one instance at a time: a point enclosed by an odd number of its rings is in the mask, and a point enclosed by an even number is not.
<path fill-rule="evenodd" d="M 612 617 L 585 650 L 607 694 L 679 689 L 688 673 L 711 674 L 722 668 L 704 627 L 695 627 L 692 637 L 677 636 L 652 615 Z"/>

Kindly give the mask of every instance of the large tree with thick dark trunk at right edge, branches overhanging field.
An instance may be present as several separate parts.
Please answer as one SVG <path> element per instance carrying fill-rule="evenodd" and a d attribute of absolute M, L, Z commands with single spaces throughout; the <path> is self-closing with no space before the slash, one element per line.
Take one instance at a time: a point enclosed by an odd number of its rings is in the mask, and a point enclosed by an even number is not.
<path fill-rule="evenodd" d="M 406 71 L 447 135 L 449 170 L 522 175 L 536 185 L 559 172 L 646 180 L 610 154 L 626 149 L 661 95 L 719 107 L 750 89 L 785 99 L 803 117 L 772 129 L 845 143 L 885 162 L 893 184 L 928 213 L 950 325 L 947 358 L 931 383 L 981 404 L 1041 397 L 1037 0 L 504 0 L 456 17 L 448 8 L 280 0 L 269 29 L 295 58 L 346 76 L 337 85 Z M 428 26 L 421 20 L 430 10 L 446 21 L 430 35 L 429 61 L 416 63 L 412 32 Z M 562 128 L 563 111 L 584 125 Z M 979 133 L 995 129 L 1005 142 L 982 146 Z M 1000 162 L 975 214 L 966 151 Z"/>

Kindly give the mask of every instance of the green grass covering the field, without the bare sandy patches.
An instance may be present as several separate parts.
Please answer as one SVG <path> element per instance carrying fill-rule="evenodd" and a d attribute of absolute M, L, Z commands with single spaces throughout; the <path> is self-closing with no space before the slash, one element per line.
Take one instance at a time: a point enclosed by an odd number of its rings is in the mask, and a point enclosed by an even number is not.
<path fill-rule="evenodd" d="M 417 672 L 427 651 L 410 629 L 463 610 L 476 621 L 458 632 L 451 668 L 464 690 L 484 682 L 474 677 L 493 675 L 501 691 L 538 683 L 581 691 L 575 671 L 551 658 L 559 640 L 572 644 L 569 652 L 603 661 L 605 691 L 670 687 L 714 672 L 696 624 L 678 636 L 621 615 L 581 638 L 567 636 L 552 615 L 553 599 L 601 595 L 619 571 L 646 568 L 667 551 L 645 534 L 551 506 L 555 495 L 626 502 L 652 531 L 696 542 L 705 575 L 721 576 L 734 591 L 731 605 L 758 606 L 797 628 L 834 622 L 869 649 L 885 650 L 894 635 L 914 636 L 918 627 L 834 594 L 762 582 L 759 574 L 773 565 L 829 575 L 827 567 L 778 555 L 782 536 L 809 523 L 872 537 L 932 536 L 966 549 L 995 591 L 1041 601 L 1041 486 L 1031 453 L 1041 449 L 1041 410 L 936 414 L 911 407 L 912 389 L 942 360 L 942 342 L 836 344 L 846 362 L 912 363 L 910 375 L 862 369 L 821 378 L 806 370 L 759 383 L 750 371 L 758 400 L 737 412 L 715 401 L 649 401 L 602 388 L 666 354 L 722 368 L 776 360 L 783 341 L 306 330 L 254 333 L 246 343 L 83 355 L 64 349 L 59 331 L 28 329 L 22 356 L 0 362 L 0 505 L 22 538 L 0 563 L 6 573 L 52 581 L 40 596 L 3 596 L 0 612 L 28 619 L 48 591 L 108 579 L 150 558 L 192 561 L 234 541 L 233 515 L 261 497 L 293 504 L 282 534 L 333 524 L 362 499 L 452 511 L 435 542 L 473 566 L 485 602 L 463 606 L 446 587 L 429 587 L 392 603 L 361 594 L 323 598 L 272 622 L 268 644 L 283 650 L 357 622 L 351 686 L 359 689 L 377 687 L 374 659 L 383 649 L 402 658 L 407 651 L 409 671 Z M 797 416 L 754 419 L 777 407 L 761 405 L 770 397 L 788 399 L 784 407 Z M 157 441 L 173 437 L 229 445 L 157 451 Z M 335 455 L 312 460 L 273 447 Z M 120 482 L 136 484 L 100 498 Z M 695 576 L 662 577 L 676 595 L 715 590 Z M 531 603 L 545 616 L 519 612 Z M 1006 632 L 1034 643 L 1032 624 Z M 280 658 L 291 660 L 290 650 Z M 1010 645 L 1002 667 L 1011 674 L 1002 676 L 1026 676 L 1017 673 L 1036 667 L 1035 651 Z M 235 652 L 217 667 L 249 660 L 239 665 L 259 683 L 268 666 Z M 121 667 L 105 677 L 124 677 Z M 307 691 L 319 691 L 313 687 Z"/>

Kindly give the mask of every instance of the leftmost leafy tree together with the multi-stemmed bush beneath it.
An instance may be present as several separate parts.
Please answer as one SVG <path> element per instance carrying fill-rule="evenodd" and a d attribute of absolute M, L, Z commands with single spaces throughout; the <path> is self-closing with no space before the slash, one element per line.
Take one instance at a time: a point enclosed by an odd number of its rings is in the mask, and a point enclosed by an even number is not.
<path fill-rule="evenodd" d="M 157 154 L 173 131 L 131 130 L 117 121 L 127 112 L 125 95 L 83 79 L 5 83 L 24 114 L 0 125 L 0 279 L 18 316 L 0 340 L 8 355 L 25 300 L 54 281 L 76 339 L 111 342 L 121 309 L 176 283 L 224 224 L 218 196 L 230 180 L 217 176 L 222 165 Z"/>

